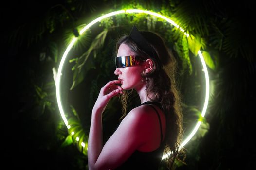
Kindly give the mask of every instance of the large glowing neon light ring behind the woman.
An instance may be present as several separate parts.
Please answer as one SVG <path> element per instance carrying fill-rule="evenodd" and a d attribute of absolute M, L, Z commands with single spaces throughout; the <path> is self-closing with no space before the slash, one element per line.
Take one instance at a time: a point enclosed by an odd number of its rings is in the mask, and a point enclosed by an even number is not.
<path fill-rule="evenodd" d="M 114 15 L 117 15 L 117 14 L 122 14 L 122 13 L 145 13 L 145 14 L 149 14 L 149 15 L 152 15 L 152 16 L 155 16 L 155 17 L 159 17 L 159 18 L 162 18 L 164 20 L 166 20 L 167 22 L 169 22 L 170 24 L 174 25 L 175 27 L 177 27 L 178 29 L 180 29 L 180 31 L 182 31 L 187 37 L 189 36 L 189 34 L 185 33 L 184 32 L 184 29 L 182 29 L 179 25 L 177 25 L 174 21 L 172 21 L 171 19 L 165 17 L 165 16 L 162 16 L 160 14 L 157 14 L 157 13 L 154 13 L 154 12 L 151 12 L 151 11 L 147 11 L 147 10 L 140 10 L 140 9 L 128 9 L 128 10 L 120 10 L 120 11 L 115 11 L 115 12 L 111 12 L 109 14 L 106 14 L 104 16 L 101 16 L 101 17 L 98 17 L 97 19 L 94 19 L 93 21 L 91 21 L 88 25 L 86 25 L 80 32 L 79 34 L 83 34 L 88 28 L 90 28 L 93 24 L 101 21 L 102 19 L 104 18 L 107 18 L 107 17 L 111 17 L 111 16 L 114 16 Z M 69 51 L 71 50 L 71 48 L 73 47 L 75 41 L 77 40 L 76 37 L 74 37 L 71 41 L 71 43 L 69 44 L 69 46 L 67 47 L 66 51 L 64 52 L 62 58 L 61 58 L 61 61 L 60 61 L 60 64 L 59 64 L 59 68 L 58 68 L 58 72 L 57 72 L 57 77 L 56 77 L 56 82 L 55 82 L 55 85 L 56 85 L 56 98 L 57 98 L 57 103 L 58 103 L 58 107 L 59 107 L 59 111 L 60 111 L 60 114 L 61 114 L 61 117 L 65 123 L 65 125 L 67 126 L 67 128 L 69 129 L 70 128 L 70 125 L 68 124 L 68 120 L 66 119 L 65 117 L 65 113 L 64 113 L 64 110 L 63 110 L 63 107 L 61 105 L 61 96 L 60 96 L 60 78 L 61 78 L 61 75 L 62 75 L 62 69 L 63 69 L 63 65 L 64 65 L 64 62 L 67 58 L 67 55 L 69 53 Z M 205 82 L 206 82 L 206 92 L 205 92 L 205 101 L 204 101 L 204 106 L 203 106 L 203 109 L 202 109 L 202 113 L 201 113 L 201 116 L 204 117 L 205 113 L 206 113 L 206 109 L 207 109 L 207 105 L 208 105 L 208 101 L 209 101 L 209 93 L 210 93 L 210 83 L 209 83 L 209 75 L 208 75 L 208 70 L 207 70 L 207 67 L 206 67 L 206 64 L 205 64 L 205 61 L 203 59 L 203 56 L 202 56 L 202 53 L 201 51 L 199 50 L 198 51 L 198 55 L 201 59 L 201 63 L 202 63 L 202 66 L 203 66 L 203 71 L 204 71 L 204 75 L 205 75 Z M 200 127 L 201 125 L 201 121 L 198 121 L 195 128 L 193 129 L 193 131 L 191 132 L 191 134 L 182 142 L 180 148 L 183 148 L 187 142 L 196 134 L 198 128 Z M 76 138 L 76 140 L 79 140 L 79 137 Z M 85 144 L 84 142 L 82 142 L 82 146 L 85 147 Z M 165 159 L 166 157 L 168 157 L 167 154 L 165 154 L 163 156 L 162 159 Z"/>

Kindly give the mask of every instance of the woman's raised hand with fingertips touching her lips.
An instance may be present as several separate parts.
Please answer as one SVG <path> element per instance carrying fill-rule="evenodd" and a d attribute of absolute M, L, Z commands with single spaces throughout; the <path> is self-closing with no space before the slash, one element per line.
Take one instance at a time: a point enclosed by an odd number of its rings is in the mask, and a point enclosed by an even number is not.
<path fill-rule="evenodd" d="M 101 110 L 101 113 L 105 110 L 110 99 L 118 94 L 123 94 L 123 88 L 119 85 L 120 80 L 112 80 L 101 88 L 97 101 L 94 104 L 93 110 Z"/>

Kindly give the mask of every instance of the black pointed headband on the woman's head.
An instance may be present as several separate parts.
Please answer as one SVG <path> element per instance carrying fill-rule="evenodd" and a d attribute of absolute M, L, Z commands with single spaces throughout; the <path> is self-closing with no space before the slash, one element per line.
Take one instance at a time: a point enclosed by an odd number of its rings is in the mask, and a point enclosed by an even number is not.
<path fill-rule="evenodd" d="M 157 59 L 157 55 L 155 50 L 149 45 L 144 36 L 139 32 L 135 25 L 133 25 L 129 37 L 141 48 L 141 50 L 145 51 L 150 58 Z"/>

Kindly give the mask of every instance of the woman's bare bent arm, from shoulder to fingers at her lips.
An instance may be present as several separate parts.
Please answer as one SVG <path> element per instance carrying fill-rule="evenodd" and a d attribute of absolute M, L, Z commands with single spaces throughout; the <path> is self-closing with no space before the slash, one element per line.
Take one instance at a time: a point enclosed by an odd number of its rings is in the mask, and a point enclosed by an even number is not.
<path fill-rule="evenodd" d="M 117 82 L 111 81 L 101 89 L 92 109 L 88 139 L 88 163 L 90 170 L 108 170 L 120 166 L 136 149 L 151 140 L 151 132 L 156 129 L 154 127 L 159 127 L 159 122 L 156 121 L 156 114 L 154 112 L 149 114 L 145 105 L 134 108 L 127 114 L 117 130 L 103 146 L 102 112 L 109 99 L 121 93 L 119 90 L 121 87 L 114 85 L 115 83 Z M 111 86 L 111 89 L 114 89 L 112 92 L 110 92 L 109 86 Z M 157 126 L 152 126 L 154 123 Z"/>

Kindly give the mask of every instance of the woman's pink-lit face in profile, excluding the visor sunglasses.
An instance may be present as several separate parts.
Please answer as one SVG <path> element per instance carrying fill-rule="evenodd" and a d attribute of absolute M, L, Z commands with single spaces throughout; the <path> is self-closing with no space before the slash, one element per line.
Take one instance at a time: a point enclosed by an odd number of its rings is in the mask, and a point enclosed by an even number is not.
<path fill-rule="evenodd" d="M 128 45 L 122 43 L 118 49 L 118 56 L 136 55 Z M 137 91 L 143 88 L 144 82 L 142 82 L 141 73 L 143 71 L 143 65 L 129 66 L 125 68 L 116 68 L 115 75 L 118 75 L 118 79 L 121 80 L 121 87 L 124 90 L 136 89 Z"/>

